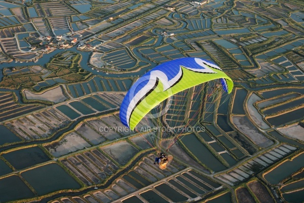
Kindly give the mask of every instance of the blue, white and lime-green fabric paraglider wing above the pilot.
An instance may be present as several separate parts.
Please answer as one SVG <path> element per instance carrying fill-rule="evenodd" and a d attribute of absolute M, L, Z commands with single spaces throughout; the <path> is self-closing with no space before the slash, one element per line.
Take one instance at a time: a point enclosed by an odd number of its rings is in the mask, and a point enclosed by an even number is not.
<path fill-rule="evenodd" d="M 196 85 L 220 79 L 227 93 L 233 81 L 215 64 L 200 58 L 179 58 L 156 66 L 127 92 L 120 109 L 121 122 L 134 129 L 140 120 L 168 97 Z"/>

